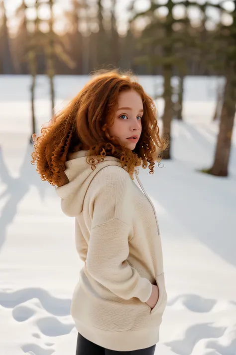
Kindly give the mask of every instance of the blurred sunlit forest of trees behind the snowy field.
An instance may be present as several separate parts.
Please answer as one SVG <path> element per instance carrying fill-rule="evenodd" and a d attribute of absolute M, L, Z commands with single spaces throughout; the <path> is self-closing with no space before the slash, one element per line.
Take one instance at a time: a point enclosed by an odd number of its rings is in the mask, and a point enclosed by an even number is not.
<path fill-rule="evenodd" d="M 170 140 L 171 120 L 183 119 L 186 79 L 204 76 L 210 80 L 200 90 L 216 101 L 212 119 L 222 116 L 209 172 L 226 176 L 236 103 L 235 58 L 236 6 L 231 0 L 0 1 L 0 75 L 31 75 L 32 132 L 37 75 L 49 79 L 51 112 L 56 75 L 88 75 L 107 67 L 150 75 L 151 95 L 164 100 L 162 131 Z M 25 85 L 22 81 L 21 89 Z"/>

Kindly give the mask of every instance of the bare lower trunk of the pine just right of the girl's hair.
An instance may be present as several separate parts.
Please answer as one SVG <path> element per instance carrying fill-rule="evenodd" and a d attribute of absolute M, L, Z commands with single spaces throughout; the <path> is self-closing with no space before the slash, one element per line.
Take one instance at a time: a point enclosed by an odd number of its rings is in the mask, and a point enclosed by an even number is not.
<path fill-rule="evenodd" d="M 164 93 L 163 98 L 165 100 L 164 114 L 162 116 L 163 120 L 163 136 L 167 138 L 169 142 L 168 148 L 163 152 L 164 159 L 170 159 L 170 149 L 171 149 L 171 120 L 172 120 L 172 87 L 171 87 L 171 75 L 172 75 L 172 66 L 170 64 L 164 65 L 163 67 L 164 75 Z"/>

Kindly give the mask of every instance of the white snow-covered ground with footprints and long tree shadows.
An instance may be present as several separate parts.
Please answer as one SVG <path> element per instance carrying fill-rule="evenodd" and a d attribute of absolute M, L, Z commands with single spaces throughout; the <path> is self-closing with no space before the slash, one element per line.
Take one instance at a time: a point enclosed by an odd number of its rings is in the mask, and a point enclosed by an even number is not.
<path fill-rule="evenodd" d="M 87 80 L 57 77 L 57 107 Z M 152 95 L 160 79 L 140 82 Z M 73 219 L 30 164 L 29 85 L 27 76 L 0 77 L 0 355 L 74 355 L 70 302 L 82 263 Z M 236 129 L 230 177 L 198 172 L 213 162 L 215 87 L 216 78 L 186 79 L 173 160 L 154 175 L 140 171 L 159 218 L 169 296 L 156 355 L 236 355 Z M 38 127 L 50 118 L 48 97 L 40 76 Z"/>

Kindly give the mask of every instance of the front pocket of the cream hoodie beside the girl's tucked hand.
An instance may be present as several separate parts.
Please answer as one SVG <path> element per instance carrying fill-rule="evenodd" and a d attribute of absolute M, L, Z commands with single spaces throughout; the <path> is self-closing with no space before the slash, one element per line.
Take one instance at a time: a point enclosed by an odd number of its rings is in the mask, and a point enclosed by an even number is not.
<path fill-rule="evenodd" d="M 155 307 L 150 311 L 151 318 L 158 322 L 161 322 L 162 315 L 164 313 L 166 303 L 167 303 L 167 294 L 165 290 L 165 278 L 164 273 L 156 277 L 156 284 L 159 289 L 159 298 Z"/>

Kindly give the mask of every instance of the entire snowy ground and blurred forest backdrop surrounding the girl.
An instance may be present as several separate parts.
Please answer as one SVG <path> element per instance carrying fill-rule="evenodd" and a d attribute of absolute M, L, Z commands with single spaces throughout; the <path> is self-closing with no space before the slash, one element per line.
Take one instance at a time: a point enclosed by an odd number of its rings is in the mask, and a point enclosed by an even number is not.
<path fill-rule="evenodd" d="M 140 169 L 169 297 L 156 354 L 235 355 L 235 0 L 0 0 L 0 354 L 75 354 L 83 265 L 31 135 L 115 67 L 137 75 L 170 140 L 164 166 Z"/>

